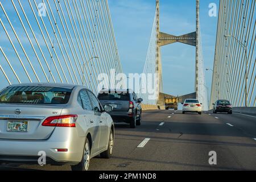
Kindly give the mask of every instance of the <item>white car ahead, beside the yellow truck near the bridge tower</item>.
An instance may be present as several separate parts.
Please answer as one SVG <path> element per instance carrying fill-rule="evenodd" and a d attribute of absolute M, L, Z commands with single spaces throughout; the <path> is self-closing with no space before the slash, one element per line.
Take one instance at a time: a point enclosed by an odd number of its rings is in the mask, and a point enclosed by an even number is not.
<path fill-rule="evenodd" d="M 182 107 L 182 113 L 202 114 L 202 104 L 197 99 L 186 99 Z"/>

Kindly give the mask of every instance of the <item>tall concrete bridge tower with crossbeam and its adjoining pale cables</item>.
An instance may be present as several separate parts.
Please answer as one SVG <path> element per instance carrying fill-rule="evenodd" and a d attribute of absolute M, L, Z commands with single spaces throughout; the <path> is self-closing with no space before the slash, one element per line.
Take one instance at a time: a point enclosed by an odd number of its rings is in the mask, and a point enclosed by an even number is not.
<path fill-rule="evenodd" d="M 200 17 L 199 17 L 199 0 L 196 0 L 196 31 L 189 34 L 174 36 L 160 32 L 160 16 L 159 16 L 159 0 L 156 0 L 155 20 L 152 28 L 150 46 L 146 63 L 144 65 L 144 73 L 156 73 L 156 100 L 148 100 L 148 94 L 144 94 L 143 98 L 146 104 L 164 105 L 164 99 L 160 96 L 163 93 L 162 79 L 162 60 L 160 48 L 173 43 L 183 43 L 196 47 L 196 68 L 195 68 L 195 93 L 188 94 L 187 98 L 197 98 L 203 104 L 203 109 L 208 110 L 207 86 L 205 85 L 204 61 L 201 44 Z M 148 65 L 151 65 L 149 67 Z M 155 67 L 154 67 L 155 65 Z M 180 97 L 180 101 L 185 97 Z"/>

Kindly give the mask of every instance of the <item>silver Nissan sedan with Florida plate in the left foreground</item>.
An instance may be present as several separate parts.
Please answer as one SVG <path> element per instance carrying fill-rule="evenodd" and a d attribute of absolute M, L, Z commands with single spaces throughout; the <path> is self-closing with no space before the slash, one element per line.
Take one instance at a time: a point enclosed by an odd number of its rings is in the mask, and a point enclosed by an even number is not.
<path fill-rule="evenodd" d="M 0 163 L 70 164 L 88 170 L 96 155 L 110 158 L 114 124 L 97 97 L 83 86 L 19 84 L 0 92 Z"/>

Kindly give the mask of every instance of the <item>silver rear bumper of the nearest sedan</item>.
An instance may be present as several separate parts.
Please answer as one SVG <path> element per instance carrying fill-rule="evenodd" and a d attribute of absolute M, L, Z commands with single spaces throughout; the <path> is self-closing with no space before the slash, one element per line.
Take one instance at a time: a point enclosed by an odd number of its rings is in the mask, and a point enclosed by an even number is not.
<path fill-rule="evenodd" d="M 48 140 L 0 140 L 0 162 L 38 163 L 46 154 L 46 164 L 77 164 L 82 159 L 85 138 L 75 130 L 59 128 Z M 57 152 L 57 148 L 67 148 L 67 152 Z"/>

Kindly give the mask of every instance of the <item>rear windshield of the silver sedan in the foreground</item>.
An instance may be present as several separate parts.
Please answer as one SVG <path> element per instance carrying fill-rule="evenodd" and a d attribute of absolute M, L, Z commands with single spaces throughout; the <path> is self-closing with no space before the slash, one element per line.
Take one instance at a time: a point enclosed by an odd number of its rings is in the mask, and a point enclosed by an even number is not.
<path fill-rule="evenodd" d="M 72 89 L 48 86 L 10 86 L 0 93 L 0 103 L 67 104 Z"/>

